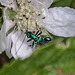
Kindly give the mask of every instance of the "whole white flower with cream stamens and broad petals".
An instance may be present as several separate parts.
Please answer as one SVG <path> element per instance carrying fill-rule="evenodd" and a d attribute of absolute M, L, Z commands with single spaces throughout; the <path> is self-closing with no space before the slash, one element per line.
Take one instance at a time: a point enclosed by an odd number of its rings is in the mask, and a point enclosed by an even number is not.
<path fill-rule="evenodd" d="M 5 50 L 9 58 L 13 56 L 15 59 L 25 59 L 32 55 L 33 49 L 28 46 L 28 38 L 25 38 L 25 34 L 20 32 L 21 30 L 23 32 L 27 29 L 36 31 L 44 27 L 57 36 L 75 36 L 75 9 L 70 7 L 48 9 L 53 0 L 17 0 L 17 2 L 19 7 L 16 0 L 0 0 L 0 3 L 6 8 L 12 8 L 17 12 L 16 20 L 12 22 L 6 18 L 4 10 L 4 22 L 0 31 L 0 53 Z M 14 33 L 13 30 L 8 36 L 5 36 L 7 31 L 15 26 L 15 23 L 17 23 L 19 31 Z"/>

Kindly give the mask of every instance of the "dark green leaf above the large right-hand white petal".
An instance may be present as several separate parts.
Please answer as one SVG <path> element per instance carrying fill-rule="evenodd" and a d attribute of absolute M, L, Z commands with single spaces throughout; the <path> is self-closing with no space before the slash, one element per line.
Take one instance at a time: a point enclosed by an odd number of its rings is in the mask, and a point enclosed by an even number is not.
<path fill-rule="evenodd" d="M 72 0 L 58 0 L 58 1 L 54 2 L 50 6 L 50 8 L 53 8 L 53 7 L 65 7 L 65 6 L 70 7 L 71 2 L 72 2 Z"/>

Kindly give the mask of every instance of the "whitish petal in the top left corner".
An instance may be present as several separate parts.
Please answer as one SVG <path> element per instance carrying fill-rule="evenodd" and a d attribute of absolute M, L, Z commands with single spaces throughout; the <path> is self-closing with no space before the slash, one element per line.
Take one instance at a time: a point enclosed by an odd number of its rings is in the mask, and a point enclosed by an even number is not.
<path fill-rule="evenodd" d="M 6 7 L 17 9 L 16 0 L 0 0 L 0 3 Z"/>

